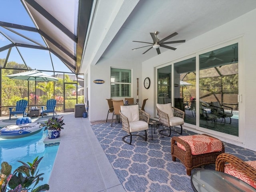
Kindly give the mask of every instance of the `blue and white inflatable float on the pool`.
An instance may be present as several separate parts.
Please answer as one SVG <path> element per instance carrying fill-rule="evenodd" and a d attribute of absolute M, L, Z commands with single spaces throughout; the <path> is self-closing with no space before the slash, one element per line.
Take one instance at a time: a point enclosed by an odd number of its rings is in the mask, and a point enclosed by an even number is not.
<path fill-rule="evenodd" d="M 18 121 L 18 120 L 17 120 Z M 29 120 L 27 120 L 29 122 Z M 42 130 L 42 126 L 38 122 L 19 124 L 22 121 L 16 122 L 17 125 L 9 125 L 0 129 L 0 137 L 4 139 L 16 139 L 37 134 Z"/>

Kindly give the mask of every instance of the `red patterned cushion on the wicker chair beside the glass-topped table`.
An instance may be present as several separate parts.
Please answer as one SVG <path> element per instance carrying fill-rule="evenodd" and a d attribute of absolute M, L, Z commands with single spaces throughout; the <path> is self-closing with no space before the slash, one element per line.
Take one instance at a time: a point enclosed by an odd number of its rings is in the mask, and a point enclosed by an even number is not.
<path fill-rule="evenodd" d="M 246 161 L 246 163 L 252 166 L 253 168 L 256 168 L 256 161 Z M 237 171 L 236 168 L 231 164 L 225 164 L 224 173 L 232 175 L 248 183 L 250 186 L 256 188 L 256 183 L 254 182 L 254 180 L 246 176 L 244 173 Z"/>

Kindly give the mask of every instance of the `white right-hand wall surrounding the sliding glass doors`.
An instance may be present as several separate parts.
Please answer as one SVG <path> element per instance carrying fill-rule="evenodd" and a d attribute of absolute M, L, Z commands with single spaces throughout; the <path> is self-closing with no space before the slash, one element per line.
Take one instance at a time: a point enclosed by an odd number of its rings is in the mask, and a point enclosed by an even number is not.
<path fill-rule="evenodd" d="M 142 97 L 148 97 L 146 111 L 151 116 L 154 114 L 154 67 L 170 63 L 179 58 L 195 54 L 206 48 L 216 46 L 228 40 L 240 38 L 239 44 L 239 94 L 242 94 L 240 105 L 240 138 L 238 141 L 221 138 L 224 141 L 234 143 L 256 151 L 256 122 L 255 122 L 255 96 L 256 96 L 256 10 L 248 12 L 231 22 L 220 26 L 206 34 L 187 41 L 177 47 L 177 50 L 168 50 L 150 60 L 142 63 L 142 79 L 149 76 L 152 86 L 142 89 Z M 186 127 L 184 127 L 186 128 Z"/>

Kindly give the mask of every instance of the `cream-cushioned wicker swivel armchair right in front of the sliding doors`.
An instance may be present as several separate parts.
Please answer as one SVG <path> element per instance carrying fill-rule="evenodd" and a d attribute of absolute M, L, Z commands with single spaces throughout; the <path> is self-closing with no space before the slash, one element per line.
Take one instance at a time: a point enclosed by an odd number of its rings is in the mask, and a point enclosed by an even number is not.
<path fill-rule="evenodd" d="M 170 133 L 168 135 L 163 134 L 165 136 L 170 137 L 171 136 L 171 127 L 180 125 L 180 133 L 182 134 L 182 125 L 184 124 L 184 116 L 185 112 L 182 110 L 179 110 L 178 108 L 172 107 L 172 104 L 156 104 L 156 110 L 158 112 L 158 118 L 159 122 L 168 127 L 169 129 L 163 129 L 159 132 L 163 132 L 165 130 L 170 130 Z M 176 132 L 176 131 L 175 131 Z"/>

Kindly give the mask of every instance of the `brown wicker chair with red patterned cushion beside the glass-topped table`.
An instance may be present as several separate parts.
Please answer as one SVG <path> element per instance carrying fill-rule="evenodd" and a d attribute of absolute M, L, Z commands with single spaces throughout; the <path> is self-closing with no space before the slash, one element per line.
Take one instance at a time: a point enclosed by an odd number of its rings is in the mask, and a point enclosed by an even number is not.
<path fill-rule="evenodd" d="M 256 188 L 256 161 L 243 161 L 232 154 L 222 153 L 215 165 L 216 171 L 232 175 Z"/>

